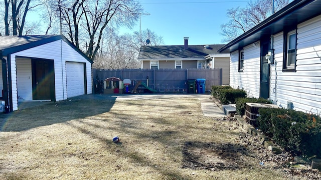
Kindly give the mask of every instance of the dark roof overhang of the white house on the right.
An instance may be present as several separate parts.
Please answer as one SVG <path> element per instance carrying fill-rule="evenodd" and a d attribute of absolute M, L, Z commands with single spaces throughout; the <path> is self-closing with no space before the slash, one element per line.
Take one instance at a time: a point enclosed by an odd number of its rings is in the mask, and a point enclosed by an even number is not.
<path fill-rule="evenodd" d="M 238 36 L 218 51 L 233 52 L 262 38 L 293 27 L 298 23 L 321 14 L 321 0 L 293 0 L 261 23 Z"/>

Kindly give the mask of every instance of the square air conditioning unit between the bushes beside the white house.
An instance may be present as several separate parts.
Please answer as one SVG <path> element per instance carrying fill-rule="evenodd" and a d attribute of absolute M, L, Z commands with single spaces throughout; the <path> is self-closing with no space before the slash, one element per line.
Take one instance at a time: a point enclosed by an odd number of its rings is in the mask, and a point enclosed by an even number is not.
<path fill-rule="evenodd" d="M 246 102 L 246 121 L 255 127 L 257 126 L 256 119 L 260 115 L 258 113 L 260 108 L 279 108 L 279 106 L 276 104 Z"/>

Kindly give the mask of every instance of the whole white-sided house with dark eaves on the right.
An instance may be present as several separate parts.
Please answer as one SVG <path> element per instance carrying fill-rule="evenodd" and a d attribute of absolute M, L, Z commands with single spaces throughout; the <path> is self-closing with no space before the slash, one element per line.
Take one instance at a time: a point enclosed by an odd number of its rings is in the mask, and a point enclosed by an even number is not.
<path fill-rule="evenodd" d="M 293 0 L 219 49 L 230 85 L 285 108 L 321 112 L 321 0 Z"/>

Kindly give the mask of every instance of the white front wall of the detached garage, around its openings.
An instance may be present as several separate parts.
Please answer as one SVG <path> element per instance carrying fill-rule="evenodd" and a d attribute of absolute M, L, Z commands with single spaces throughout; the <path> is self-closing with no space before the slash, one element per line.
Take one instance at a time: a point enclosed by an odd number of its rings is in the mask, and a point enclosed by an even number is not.
<path fill-rule="evenodd" d="M 65 41 L 56 40 L 11 54 L 13 110 L 18 110 L 16 56 L 54 59 L 56 101 L 67 99 L 66 61 L 85 62 L 87 72 L 87 94 L 92 93 L 91 63 Z"/>

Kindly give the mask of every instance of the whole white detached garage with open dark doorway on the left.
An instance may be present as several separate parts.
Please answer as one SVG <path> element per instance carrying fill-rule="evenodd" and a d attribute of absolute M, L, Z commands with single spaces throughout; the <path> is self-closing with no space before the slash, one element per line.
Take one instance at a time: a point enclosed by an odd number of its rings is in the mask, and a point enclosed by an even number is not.
<path fill-rule="evenodd" d="M 63 35 L 0 36 L 0 88 L 10 111 L 23 101 L 92 93 L 92 61 Z"/>

